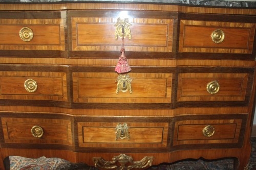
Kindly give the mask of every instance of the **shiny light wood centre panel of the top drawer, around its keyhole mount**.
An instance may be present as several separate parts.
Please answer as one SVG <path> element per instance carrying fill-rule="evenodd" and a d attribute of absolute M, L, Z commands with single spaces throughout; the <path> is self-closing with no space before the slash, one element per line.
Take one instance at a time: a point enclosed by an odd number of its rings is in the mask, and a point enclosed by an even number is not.
<path fill-rule="evenodd" d="M 117 18 L 72 17 L 72 51 L 120 51 L 115 40 Z M 172 52 L 173 19 L 132 18 L 132 39 L 124 39 L 126 51 Z M 103 56 L 102 56 L 103 57 Z"/>

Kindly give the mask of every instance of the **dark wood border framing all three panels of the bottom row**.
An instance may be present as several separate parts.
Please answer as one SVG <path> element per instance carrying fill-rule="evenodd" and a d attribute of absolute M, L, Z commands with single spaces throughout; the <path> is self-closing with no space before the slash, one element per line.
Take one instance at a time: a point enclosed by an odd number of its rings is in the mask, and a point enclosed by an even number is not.
<path fill-rule="evenodd" d="M 2 123 L 0 122 L 0 141 L 2 148 L 20 148 L 25 149 L 60 149 L 60 150 L 69 150 L 75 152 L 126 152 L 126 153 L 146 153 L 146 152 L 172 152 L 184 149 L 210 149 L 210 148 L 241 148 L 243 144 L 243 136 L 246 129 L 247 114 L 229 114 L 227 117 L 225 114 L 216 114 L 216 115 L 184 115 L 184 116 L 175 116 L 175 117 L 134 117 L 134 116 L 122 116 L 122 117 L 113 117 L 113 116 L 71 116 L 63 114 L 44 114 L 44 113 L 1 113 L 1 117 L 17 117 L 17 118 L 57 118 L 57 119 L 67 119 L 71 121 L 72 127 L 72 140 L 74 145 L 72 147 L 63 144 L 38 144 L 38 143 L 5 143 L 3 136 Z M 242 125 L 239 135 L 238 143 L 213 143 L 213 144 L 184 144 L 172 146 L 174 139 L 174 126 L 175 122 L 179 120 L 207 120 L 207 119 L 242 119 Z M 78 122 L 117 122 L 117 123 L 129 123 L 129 122 L 141 122 L 141 123 L 169 123 L 168 127 L 168 138 L 167 146 L 165 148 L 80 148 L 78 147 Z"/>

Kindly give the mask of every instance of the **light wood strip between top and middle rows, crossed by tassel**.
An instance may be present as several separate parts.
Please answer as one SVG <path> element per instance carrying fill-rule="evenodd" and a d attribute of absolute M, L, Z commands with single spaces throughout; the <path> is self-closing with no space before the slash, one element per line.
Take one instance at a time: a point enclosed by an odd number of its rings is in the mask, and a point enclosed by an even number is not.
<path fill-rule="evenodd" d="M 254 66 L 255 61 L 245 60 L 163 60 L 163 59 L 128 59 L 132 66 Z M 13 58 L 0 57 L 0 63 L 18 64 L 74 64 L 74 65 L 111 65 L 115 66 L 118 59 L 67 59 L 67 58 Z"/>

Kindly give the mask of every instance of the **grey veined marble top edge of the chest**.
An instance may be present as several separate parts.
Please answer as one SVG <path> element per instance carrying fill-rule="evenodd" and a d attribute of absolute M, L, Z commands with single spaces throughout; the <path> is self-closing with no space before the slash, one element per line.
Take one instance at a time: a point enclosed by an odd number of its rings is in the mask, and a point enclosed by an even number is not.
<path fill-rule="evenodd" d="M 230 1 L 230 0 L 0 0 L 1 3 L 159 3 L 159 4 L 184 4 L 191 6 L 217 6 L 217 7 L 240 7 L 256 8 L 256 0 Z M 256 10 L 256 9 L 255 9 Z"/>

